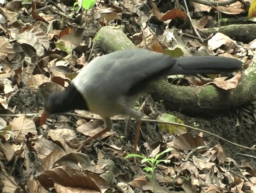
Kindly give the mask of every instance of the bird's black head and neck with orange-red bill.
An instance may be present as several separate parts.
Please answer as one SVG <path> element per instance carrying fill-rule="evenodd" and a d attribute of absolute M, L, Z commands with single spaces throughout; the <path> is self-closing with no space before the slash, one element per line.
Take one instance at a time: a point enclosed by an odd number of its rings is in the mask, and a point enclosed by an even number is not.
<path fill-rule="evenodd" d="M 84 97 L 71 83 L 64 91 L 54 93 L 47 98 L 40 124 L 45 122 L 48 114 L 67 112 L 75 109 L 89 110 Z"/>

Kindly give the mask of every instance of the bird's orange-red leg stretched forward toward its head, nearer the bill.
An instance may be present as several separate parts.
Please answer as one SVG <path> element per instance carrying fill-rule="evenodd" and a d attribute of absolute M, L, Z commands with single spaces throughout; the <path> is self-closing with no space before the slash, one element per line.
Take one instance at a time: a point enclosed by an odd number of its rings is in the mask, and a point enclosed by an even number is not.
<path fill-rule="evenodd" d="M 87 144 L 89 144 L 92 140 L 94 140 L 94 139 L 96 139 L 96 138 L 102 136 L 102 135 L 105 134 L 106 132 L 110 131 L 110 129 L 112 128 L 112 120 L 111 120 L 109 117 L 103 118 L 103 120 L 104 120 L 104 123 L 105 123 L 106 127 L 105 127 L 103 130 L 101 130 L 100 132 L 98 132 L 97 134 L 95 134 L 94 136 L 91 136 L 90 138 L 88 138 L 88 139 L 82 141 L 82 142 L 80 143 L 80 146 L 79 146 L 78 149 L 76 150 L 76 152 L 80 152 L 80 151 L 81 151 L 83 148 L 85 148 L 85 146 L 86 146 Z M 79 144 L 78 144 L 78 145 L 79 145 Z"/>

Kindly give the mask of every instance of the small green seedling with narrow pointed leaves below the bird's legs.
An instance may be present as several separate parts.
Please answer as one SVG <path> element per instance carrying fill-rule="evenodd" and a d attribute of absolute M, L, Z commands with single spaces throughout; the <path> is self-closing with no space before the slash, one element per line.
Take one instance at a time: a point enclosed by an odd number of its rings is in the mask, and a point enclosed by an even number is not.
<path fill-rule="evenodd" d="M 149 175 L 146 175 L 150 181 L 153 184 L 153 188 L 154 188 L 154 192 L 155 192 L 155 169 L 158 165 L 158 163 L 164 162 L 164 163 L 170 163 L 170 160 L 160 160 L 160 156 L 162 156 L 163 154 L 172 151 L 173 148 L 167 148 L 166 150 L 164 150 L 163 152 L 156 154 L 156 156 L 154 158 L 148 158 L 146 156 L 142 156 L 139 154 L 128 154 L 124 159 L 127 158 L 141 158 L 141 163 L 147 163 L 148 167 L 145 167 L 143 170 L 145 170 L 146 172 L 150 173 Z"/>

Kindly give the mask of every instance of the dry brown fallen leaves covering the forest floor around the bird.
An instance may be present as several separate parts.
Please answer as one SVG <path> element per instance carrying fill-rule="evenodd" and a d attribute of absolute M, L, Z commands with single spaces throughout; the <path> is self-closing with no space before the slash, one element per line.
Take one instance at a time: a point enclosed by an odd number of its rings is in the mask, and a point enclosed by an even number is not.
<path fill-rule="evenodd" d="M 75 152 L 75 149 L 67 146 L 66 141 L 78 142 L 84 135 L 91 136 L 95 129 L 100 128 L 99 121 L 65 114 L 52 116 L 42 127 L 37 127 L 36 115 L 29 114 L 40 114 L 47 95 L 66 87 L 76 72 L 86 65 L 90 55 L 88 48 L 96 33 L 90 31 L 90 35 L 86 35 L 78 28 L 64 28 L 67 13 L 54 14 L 55 6 L 44 12 L 44 6 L 43 2 L 38 1 L 29 6 L 7 2 L 1 7 L 5 21 L 0 24 L 0 83 L 3 85 L 0 87 L 0 105 L 3 114 L 21 115 L 17 118 L 1 116 L 0 191 L 132 193 L 134 190 L 152 192 L 157 189 L 156 192 L 256 192 L 255 151 L 240 149 L 207 134 L 198 134 L 192 130 L 180 135 L 170 134 L 161 132 L 157 124 L 144 123 L 140 154 L 154 157 L 167 148 L 173 148 L 161 156 L 162 160 L 170 160 L 170 163 L 157 165 L 154 173 L 156 183 L 152 183 L 143 170 L 148 167 L 146 163 L 124 159 L 133 146 L 133 121 L 126 124 L 115 122 L 113 132 L 92 142 L 90 150 L 83 153 Z M 58 6 L 74 14 L 72 5 L 60 3 Z M 171 11 L 169 6 L 129 0 L 108 5 L 97 1 L 96 6 L 88 10 L 87 19 L 92 21 L 94 18 L 101 25 L 109 25 L 113 21 L 119 24 L 126 20 L 121 17 L 123 14 L 129 18 L 126 28 L 133 33 L 136 45 L 152 45 L 154 51 L 165 52 L 166 49 L 178 48 L 179 53 L 172 52 L 172 55 L 180 55 L 186 51 L 187 45 L 203 47 L 195 39 L 185 40 L 182 44 L 183 40 L 177 32 L 156 27 L 163 22 L 169 27 L 179 28 L 186 28 L 189 24 L 185 12 Z M 167 7 L 169 9 L 164 10 Z M 196 8 L 196 12 L 201 12 L 204 6 L 196 4 Z M 216 10 L 213 6 L 207 6 L 207 10 L 212 9 Z M 240 3 L 221 7 L 220 11 L 226 14 L 244 12 Z M 28 17 L 31 24 L 20 20 L 31 12 L 33 18 Z M 152 18 L 155 20 L 153 23 L 159 25 L 148 28 L 146 22 Z M 76 19 L 80 20 L 78 16 Z M 204 28 L 211 19 L 210 16 L 204 18 L 199 26 Z M 142 31 L 138 28 L 140 23 L 145 27 Z M 62 28 L 56 28 L 56 25 Z M 95 23 L 92 26 L 100 28 Z M 80 53 L 78 47 L 83 48 L 80 58 L 72 52 L 77 49 L 77 53 Z M 217 33 L 209 39 L 208 49 L 214 53 L 228 53 L 230 57 L 244 55 L 237 51 L 244 47 L 223 33 Z M 66 57 L 68 54 L 75 57 Z M 228 80 L 218 77 L 208 84 L 215 84 L 222 89 L 235 88 L 239 76 L 238 73 Z M 200 81 L 190 78 L 188 84 L 200 85 Z M 161 103 L 151 98 L 149 100 L 153 104 L 154 114 L 166 112 Z M 140 101 L 143 101 L 143 97 Z M 172 114 L 190 126 L 198 125 L 237 144 L 249 147 L 256 144 L 255 118 L 251 118 L 250 122 L 244 115 L 238 117 L 234 112 L 224 112 L 218 116 L 209 114 L 202 118 L 191 118 L 178 112 Z M 235 127 L 238 119 L 244 122 Z M 128 129 L 125 130 L 125 127 Z M 245 154 L 251 158 L 244 157 Z"/>

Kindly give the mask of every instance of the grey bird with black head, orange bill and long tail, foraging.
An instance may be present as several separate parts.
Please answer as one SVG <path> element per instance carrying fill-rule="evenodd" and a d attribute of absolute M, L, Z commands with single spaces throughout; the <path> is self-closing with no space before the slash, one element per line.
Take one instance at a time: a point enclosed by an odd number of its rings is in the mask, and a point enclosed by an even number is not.
<path fill-rule="evenodd" d="M 127 115 L 137 121 L 133 152 L 137 152 L 142 114 L 133 106 L 150 82 L 166 75 L 216 74 L 237 71 L 242 61 L 219 56 L 171 58 L 147 49 L 124 49 L 96 57 L 84 66 L 68 87 L 45 102 L 42 125 L 49 114 L 87 110 L 102 116 L 105 127 L 94 136 L 73 144 L 81 151 L 112 129 L 110 117 Z"/>

